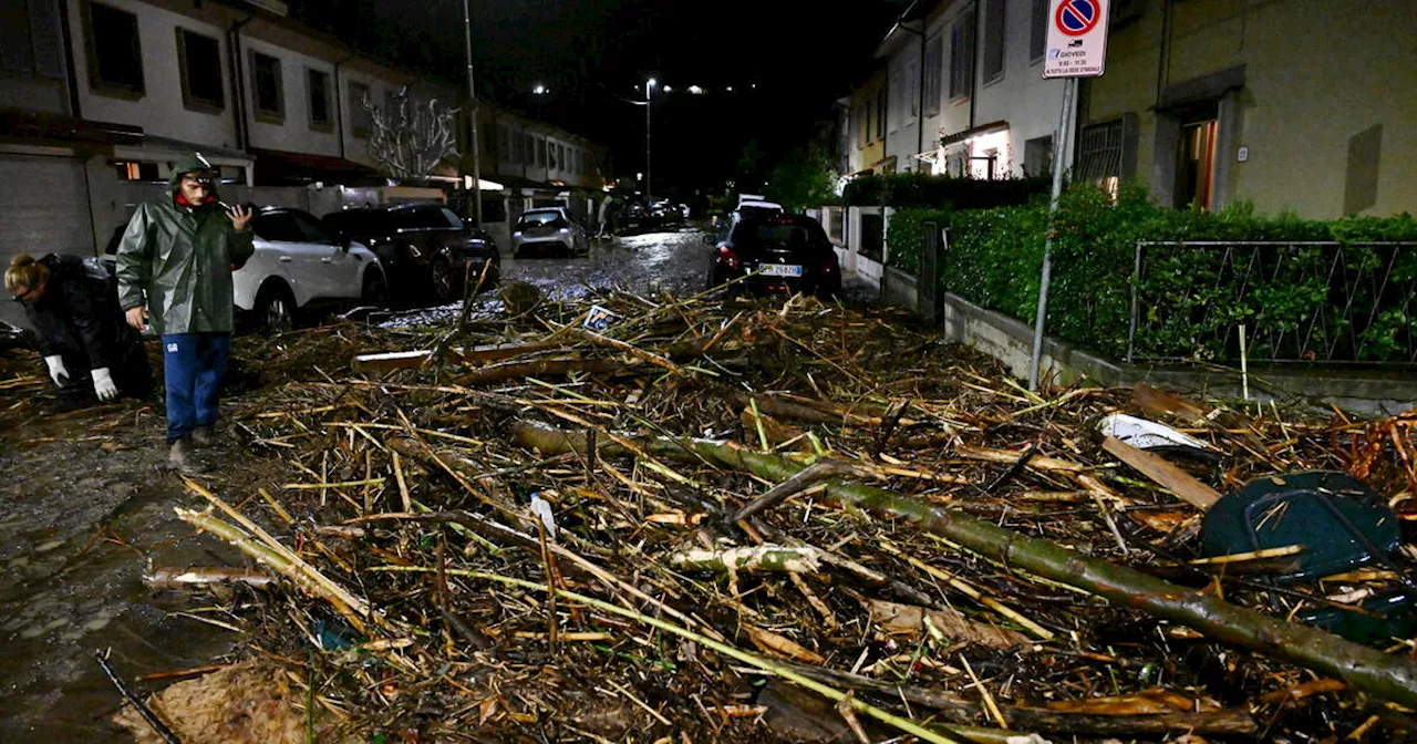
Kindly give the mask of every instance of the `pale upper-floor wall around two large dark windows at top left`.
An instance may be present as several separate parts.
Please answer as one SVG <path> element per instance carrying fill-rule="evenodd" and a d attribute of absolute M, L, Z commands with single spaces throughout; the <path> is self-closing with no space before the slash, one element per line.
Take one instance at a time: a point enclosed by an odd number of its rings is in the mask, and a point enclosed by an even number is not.
<path fill-rule="evenodd" d="M 74 74 L 84 118 L 142 126 L 149 135 L 194 145 L 235 147 L 237 125 L 232 115 L 234 96 L 224 30 L 193 17 L 196 13 L 183 16 L 137 0 L 103 1 L 137 16 L 145 94 L 142 98 L 130 99 L 94 91 L 85 52 L 89 28 L 84 16 L 88 0 L 74 0 L 68 3 L 68 14 L 69 28 L 74 33 Z M 179 27 L 217 38 L 221 45 L 225 108 L 220 113 L 191 111 L 183 103 L 181 65 L 177 57 Z"/>

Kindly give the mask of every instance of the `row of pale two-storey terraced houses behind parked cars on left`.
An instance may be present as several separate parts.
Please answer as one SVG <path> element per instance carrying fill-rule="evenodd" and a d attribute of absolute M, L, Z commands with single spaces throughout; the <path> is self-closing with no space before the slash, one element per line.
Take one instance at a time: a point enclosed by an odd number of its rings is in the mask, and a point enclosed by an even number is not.
<path fill-rule="evenodd" d="M 220 167 L 228 203 L 324 214 L 470 188 L 466 162 L 421 179 L 435 188 L 391 186 L 370 150 L 364 105 L 387 109 L 407 88 L 417 101 L 466 108 L 461 86 L 359 54 L 288 18 L 279 0 L 0 3 L 4 264 L 18 252 L 102 252 L 136 205 L 162 191 L 170 163 L 193 150 Z M 483 122 L 483 135 L 495 120 Z M 527 188 L 599 188 L 602 150 L 521 120 L 519 135 L 534 136 L 516 171 Z M 459 125 L 463 152 L 466 129 Z M 486 137 L 483 146 L 496 149 Z M 487 201 L 504 214 L 504 200 L 526 197 L 509 187 Z M 21 317 L 13 303 L 0 309 L 0 319 Z"/>

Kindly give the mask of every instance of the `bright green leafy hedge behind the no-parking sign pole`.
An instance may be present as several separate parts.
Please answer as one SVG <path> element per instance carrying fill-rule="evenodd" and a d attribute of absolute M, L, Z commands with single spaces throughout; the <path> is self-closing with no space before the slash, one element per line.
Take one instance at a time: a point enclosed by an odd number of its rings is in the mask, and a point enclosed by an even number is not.
<path fill-rule="evenodd" d="M 898 241 L 908 242 L 914 222 L 915 252 L 924 218 L 922 213 L 904 213 Z M 1047 204 L 1039 200 L 1022 207 L 958 210 L 948 218 L 941 288 L 1032 323 Z M 1124 190 L 1114 203 L 1097 188 L 1073 187 L 1058 204 L 1049 295 L 1051 334 L 1117 359 L 1125 356 L 1131 275 L 1141 239 L 1417 241 L 1417 220 L 1267 218 L 1244 205 L 1202 214 L 1158 207 L 1138 188 Z M 897 255 L 894 238 L 891 254 Z M 1335 359 L 1404 361 L 1417 343 L 1417 302 L 1408 302 L 1417 281 L 1417 249 L 1345 248 L 1345 271 L 1338 274 L 1333 248 L 1237 255 L 1253 261 L 1241 266 L 1247 272 L 1227 265 L 1224 251 L 1151 251 L 1142 285 L 1146 302 L 1144 333 L 1138 334 L 1141 356 L 1236 359 L 1237 340 L 1230 329 L 1240 322 L 1257 333 L 1250 351 L 1255 359 L 1305 356 L 1297 336 L 1325 350 L 1318 359 L 1333 349 Z M 904 271 L 918 266 L 918 257 L 904 247 L 898 258 Z M 1243 299 L 1237 302 L 1237 296 Z M 1369 310 L 1346 319 L 1340 312 L 1346 306 Z"/>

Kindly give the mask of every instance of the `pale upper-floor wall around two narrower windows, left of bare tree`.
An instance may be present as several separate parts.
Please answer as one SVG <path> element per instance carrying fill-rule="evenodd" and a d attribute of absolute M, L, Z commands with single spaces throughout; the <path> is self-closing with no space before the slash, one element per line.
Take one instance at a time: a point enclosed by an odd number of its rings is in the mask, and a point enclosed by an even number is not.
<path fill-rule="evenodd" d="M 269 123 L 256 118 L 255 74 L 251 69 L 252 52 L 281 61 L 282 92 L 285 96 L 285 119 L 281 123 Z M 339 156 L 340 139 L 336 125 L 340 123 L 340 116 L 334 109 L 336 102 L 330 101 L 330 126 L 327 130 L 316 129 L 310 123 L 310 84 L 307 71 L 317 69 L 329 75 L 330 96 L 336 98 L 333 62 L 244 35 L 241 40 L 241 67 L 245 72 L 245 112 L 248 132 L 251 133 L 249 145 L 252 147 L 323 154 L 329 157 Z M 376 102 L 381 101 L 381 98 L 376 98 Z"/>

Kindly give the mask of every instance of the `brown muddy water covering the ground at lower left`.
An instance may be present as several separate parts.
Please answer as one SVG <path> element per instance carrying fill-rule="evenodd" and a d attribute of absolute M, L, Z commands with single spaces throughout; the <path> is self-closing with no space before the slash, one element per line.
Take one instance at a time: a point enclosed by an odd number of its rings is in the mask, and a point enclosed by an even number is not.
<path fill-rule="evenodd" d="M 0 407 L 17 397 L 0 394 Z M 176 615 L 217 604 L 210 595 L 142 584 L 149 558 L 241 564 L 173 516 L 190 497 L 154 470 L 162 445 L 160 418 L 132 402 L 0 429 L 0 741 L 130 741 L 108 721 L 119 696 L 95 650 L 133 679 L 208 665 L 238 641 Z"/>

